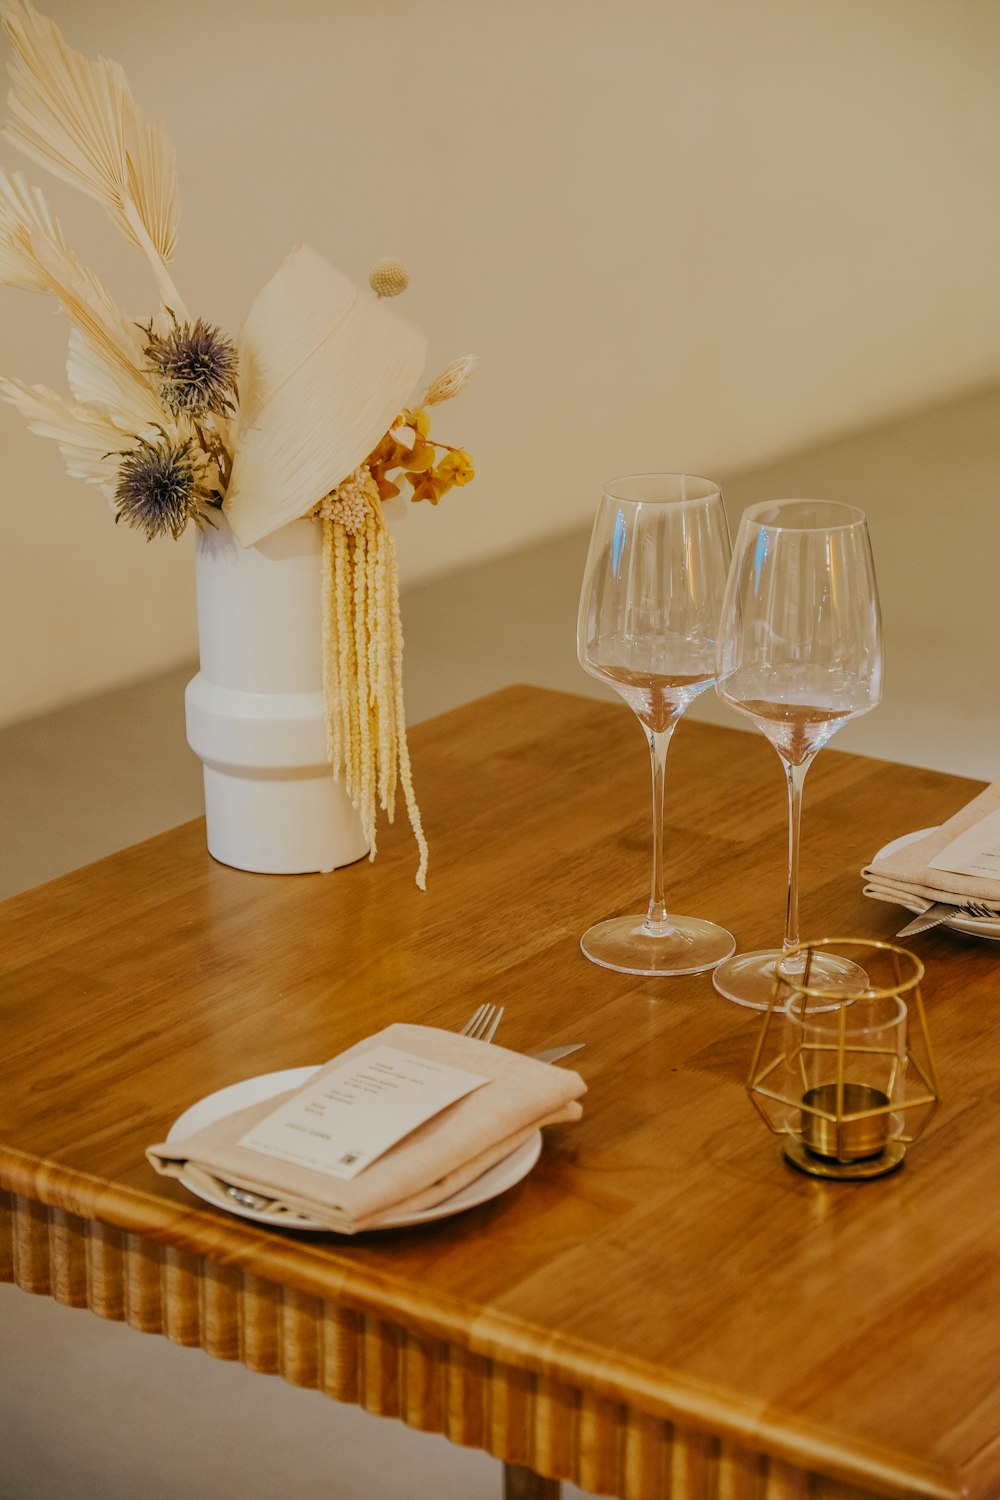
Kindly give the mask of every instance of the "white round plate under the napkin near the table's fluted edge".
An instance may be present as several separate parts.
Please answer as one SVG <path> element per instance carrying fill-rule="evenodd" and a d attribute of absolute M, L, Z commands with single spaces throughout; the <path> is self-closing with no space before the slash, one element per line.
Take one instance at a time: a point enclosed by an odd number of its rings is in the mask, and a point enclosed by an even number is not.
<path fill-rule="evenodd" d="M 264 1100 L 274 1098 L 276 1094 L 285 1094 L 289 1089 L 300 1089 L 313 1072 L 319 1071 L 319 1065 L 315 1068 L 285 1068 L 282 1072 L 261 1072 L 256 1078 L 243 1078 L 241 1083 L 231 1083 L 225 1089 L 217 1089 L 214 1094 L 208 1094 L 204 1100 L 198 1100 L 190 1108 L 184 1110 L 166 1132 L 166 1140 L 183 1140 L 184 1136 L 192 1136 L 196 1130 L 204 1125 L 211 1125 L 214 1120 L 223 1119 L 226 1114 L 234 1114 L 237 1110 L 244 1110 L 250 1104 L 262 1104 Z M 523 1144 L 511 1150 L 510 1156 L 504 1156 L 493 1167 L 484 1172 L 474 1182 L 466 1182 L 459 1192 L 453 1192 L 450 1198 L 444 1198 L 441 1203 L 435 1203 L 430 1209 L 421 1209 L 418 1214 L 385 1214 L 373 1228 L 403 1228 L 408 1224 L 430 1224 L 433 1220 L 447 1218 L 451 1214 L 462 1214 L 465 1209 L 474 1209 L 478 1203 L 489 1203 L 490 1198 L 499 1197 L 501 1192 L 507 1192 L 514 1184 L 526 1178 L 534 1164 L 541 1155 L 541 1131 L 537 1130 L 534 1136 L 529 1136 Z M 258 1224 L 270 1224 L 273 1228 L 301 1228 L 313 1230 L 322 1234 L 339 1233 L 330 1228 L 328 1224 L 316 1224 L 315 1220 L 304 1218 L 301 1214 L 292 1214 L 291 1209 L 280 1210 L 276 1214 L 258 1214 L 255 1209 L 243 1208 L 240 1203 L 234 1203 L 232 1198 L 225 1197 L 220 1192 L 211 1192 L 201 1185 L 190 1182 L 183 1173 L 180 1182 L 193 1192 L 195 1197 L 204 1198 L 205 1203 L 214 1204 L 217 1209 L 225 1209 L 226 1214 L 237 1214 L 240 1218 L 255 1220 Z"/>

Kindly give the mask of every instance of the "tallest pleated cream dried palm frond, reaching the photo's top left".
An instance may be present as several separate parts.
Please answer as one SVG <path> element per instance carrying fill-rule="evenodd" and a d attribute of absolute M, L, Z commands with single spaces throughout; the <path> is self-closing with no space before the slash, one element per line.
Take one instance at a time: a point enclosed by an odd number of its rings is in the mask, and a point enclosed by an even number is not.
<path fill-rule="evenodd" d="M 16 56 L 9 64 L 6 136 L 36 162 L 96 198 L 153 267 L 160 296 L 178 314 L 166 274 L 180 218 L 174 147 L 132 99 L 124 74 L 73 51 L 30 0 L 0 10 Z"/>

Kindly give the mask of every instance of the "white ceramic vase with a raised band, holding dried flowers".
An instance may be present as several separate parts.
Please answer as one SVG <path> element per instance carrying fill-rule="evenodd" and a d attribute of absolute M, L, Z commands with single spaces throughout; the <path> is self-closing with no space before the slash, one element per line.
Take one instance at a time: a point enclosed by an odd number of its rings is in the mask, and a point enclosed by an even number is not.
<path fill-rule="evenodd" d="M 322 530 L 292 520 L 243 548 L 213 520 L 196 542 L 201 670 L 184 694 L 208 852 L 264 874 L 351 864 L 369 846 L 327 760 Z"/>

